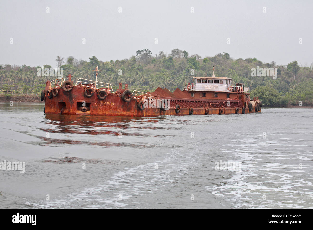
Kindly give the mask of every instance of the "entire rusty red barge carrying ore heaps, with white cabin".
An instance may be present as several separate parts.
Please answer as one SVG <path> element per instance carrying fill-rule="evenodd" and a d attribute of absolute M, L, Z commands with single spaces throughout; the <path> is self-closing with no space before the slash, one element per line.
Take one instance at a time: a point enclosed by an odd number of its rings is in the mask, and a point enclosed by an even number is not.
<path fill-rule="evenodd" d="M 193 77 L 195 83 L 184 85 L 173 93 L 157 88 L 154 92 L 119 89 L 113 92 L 109 83 L 78 79 L 76 84 L 64 78 L 47 81 L 42 90 L 46 114 L 82 114 L 106 116 L 157 117 L 162 115 L 208 115 L 259 113 L 262 102 L 250 99 L 249 88 L 242 83 L 232 85 L 232 79 Z M 216 71 L 216 70 L 215 70 Z"/>

